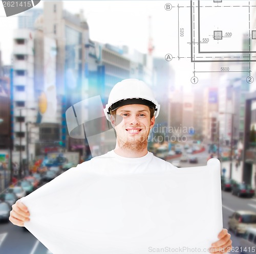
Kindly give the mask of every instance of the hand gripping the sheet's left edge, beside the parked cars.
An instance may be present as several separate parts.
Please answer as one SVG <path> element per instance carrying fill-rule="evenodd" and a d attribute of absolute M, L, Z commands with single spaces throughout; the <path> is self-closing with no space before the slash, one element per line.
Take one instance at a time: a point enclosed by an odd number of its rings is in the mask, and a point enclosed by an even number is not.
<path fill-rule="evenodd" d="M 17 200 L 16 203 L 12 205 L 9 220 L 14 225 L 24 226 L 24 222 L 30 220 L 29 216 L 28 207 L 23 204 L 22 201 Z"/>

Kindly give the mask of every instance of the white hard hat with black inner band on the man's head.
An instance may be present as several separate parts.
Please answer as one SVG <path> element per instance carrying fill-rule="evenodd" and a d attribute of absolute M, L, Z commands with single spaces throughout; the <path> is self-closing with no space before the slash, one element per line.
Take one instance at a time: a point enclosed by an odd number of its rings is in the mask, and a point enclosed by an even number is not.
<path fill-rule="evenodd" d="M 138 79 L 124 79 L 114 85 L 110 92 L 108 104 L 104 108 L 106 119 L 110 121 L 110 110 L 129 104 L 143 104 L 155 108 L 155 118 L 159 114 L 157 103 L 149 86 Z"/>

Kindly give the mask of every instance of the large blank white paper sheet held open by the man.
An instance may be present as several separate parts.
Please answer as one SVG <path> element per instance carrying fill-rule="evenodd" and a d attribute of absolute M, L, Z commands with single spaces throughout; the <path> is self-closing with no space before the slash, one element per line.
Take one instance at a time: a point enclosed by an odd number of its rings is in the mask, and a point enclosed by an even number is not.
<path fill-rule="evenodd" d="M 206 253 L 218 240 L 219 160 L 166 174 L 84 172 L 63 173 L 22 199 L 25 226 L 53 254 Z"/>

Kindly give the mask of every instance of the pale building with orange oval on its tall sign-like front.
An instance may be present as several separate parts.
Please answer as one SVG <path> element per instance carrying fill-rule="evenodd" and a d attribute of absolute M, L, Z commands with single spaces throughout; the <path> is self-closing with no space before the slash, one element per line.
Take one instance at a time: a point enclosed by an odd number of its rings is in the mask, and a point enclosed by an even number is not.
<path fill-rule="evenodd" d="M 61 126 L 61 97 L 56 87 L 56 40 L 44 32 L 44 15 L 34 24 L 34 93 L 38 102 L 36 156 L 58 151 Z"/>

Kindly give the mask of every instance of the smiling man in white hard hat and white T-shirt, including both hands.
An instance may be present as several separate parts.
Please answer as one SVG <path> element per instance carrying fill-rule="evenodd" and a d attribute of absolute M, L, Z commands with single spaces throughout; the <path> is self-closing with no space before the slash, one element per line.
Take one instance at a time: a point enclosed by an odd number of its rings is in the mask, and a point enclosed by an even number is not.
<path fill-rule="evenodd" d="M 155 100 L 151 89 L 137 79 L 126 79 L 117 83 L 109 96 L 108 104 L 104 109 L 106 118 L 111 122 L 117 135 L 114 150 L 101 155 L 108 158 L 104 164 L 99 163 L 100 157 L 86 161 L 88 172 L 163 172 L 172 170 L 173 165 L 147 151 L 147 137 L 155 124 L 160 105 Z M 76 168 L 81 168 L 82 165 Z M 111 167 L 109 166 L 111 165 Z M 66 172 L 72 174 L 72 171 Z M 63 174 L 66 174 L 63 173 Z M 61 175 L 59 176 L 61 177 Z M 17 201 L 10 213 L 10 221 L 18 226 L 24 226 L 29 221 L 29 211 L 21 202 Z M 219 239 L 212 244 L 212 252 L 225 253 L 231 249 L 230 234 L 223 229 Z M 221 251 L 220 251 L 221 248 Z M 223 252 L 223 248 L 226 250 Z"/>

